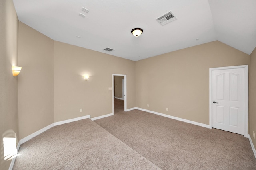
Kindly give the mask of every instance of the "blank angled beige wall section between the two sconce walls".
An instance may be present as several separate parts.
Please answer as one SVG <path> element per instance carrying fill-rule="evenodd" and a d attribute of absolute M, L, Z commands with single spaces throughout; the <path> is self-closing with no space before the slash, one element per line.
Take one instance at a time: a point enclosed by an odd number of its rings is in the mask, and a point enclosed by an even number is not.
<path fill-rule="evenodd" d="M 53 40 L 19 22 L 20 139 L 54 123 Z"/>

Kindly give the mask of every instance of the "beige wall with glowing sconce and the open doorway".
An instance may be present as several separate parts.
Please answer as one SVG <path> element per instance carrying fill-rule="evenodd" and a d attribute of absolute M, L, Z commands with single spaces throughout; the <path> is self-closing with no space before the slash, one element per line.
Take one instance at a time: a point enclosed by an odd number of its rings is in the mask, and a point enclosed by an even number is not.
<path fill-rule="evenodd" d="M 112 74 L 127 75 L 127 108 L 135 107 L 135 61 L 54 41 L 54 122 L 112 113 Z"/>

